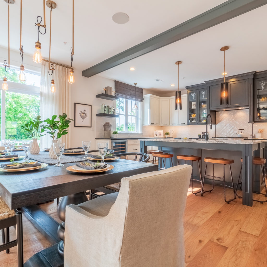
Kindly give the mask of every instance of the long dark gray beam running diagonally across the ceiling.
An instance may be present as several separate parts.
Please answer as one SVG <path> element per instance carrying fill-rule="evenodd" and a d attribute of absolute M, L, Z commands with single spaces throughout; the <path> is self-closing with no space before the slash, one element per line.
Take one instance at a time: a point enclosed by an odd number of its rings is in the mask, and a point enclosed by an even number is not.
<path fill-rule="evenodd" d="M 135 45 L 113 57 L 110 57 L 86 70 L 83 76 L 91 77 L 111 69 L 133 58 L 162 48 L 195 33 L 201 32 L 219 23 L 237 17 L 257 7 L 267 4 L 267 0 L 229 0 L 194 18 L 191 18 L 163 33 L 160 33 L 138 45 Z"/>

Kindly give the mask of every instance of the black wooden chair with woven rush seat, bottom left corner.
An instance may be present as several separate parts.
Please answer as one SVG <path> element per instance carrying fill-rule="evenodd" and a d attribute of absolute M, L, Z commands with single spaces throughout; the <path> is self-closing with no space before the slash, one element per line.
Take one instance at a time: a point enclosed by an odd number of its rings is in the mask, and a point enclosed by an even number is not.
<path fill-rule="evenodd" d="M 9 241 L 9 227 L 16 227 L 17 239 Z M 5 201 L 0 197 L 0 229 L 2 231 L 2 243 L 0 252 L 17 246 L 18 267 L 23 267 L 23 235 L 22 235 L 22 212 L 10 210 Z"/>

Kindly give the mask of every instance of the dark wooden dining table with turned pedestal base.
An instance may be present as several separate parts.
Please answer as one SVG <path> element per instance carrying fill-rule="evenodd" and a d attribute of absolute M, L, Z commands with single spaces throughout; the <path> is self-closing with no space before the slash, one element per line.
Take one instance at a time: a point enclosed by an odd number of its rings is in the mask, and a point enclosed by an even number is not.
<path fill-rule="evenodd" d="M 82 159 L 83 156 L 75 155 L 78 159 Z M 90 155 L 88 154 L 88 156 Z M 8 160 L 2 160 L 1 164 L 8 162 Z M 0 195 L 7 206 L 10 209 L 22 210 L 30 222 L 51 243 L 49 248 L 41 250 L 29 258 L 24 263 L 24 267 L 64 266 L 62 240 L 66 205 L 72 203 L 77 205 L 87 201 L 85 192 L 88 190 L 120 182 L 123 177 L 158 170 L 156 164 L 127 159 L 109 161 L 108 164 L 114 168 L 97 173 L 72 172 L 66 169 L 75 163 L 65 163 L 62 167 L 48 165 L 28 171 L 0 171 Z M 58 215 L 62 222 L 59 224 L 37 203 L 60 197 L 62 198 L 58 205 Z M 88 242 L 90 241 L 88 240 Z"/>

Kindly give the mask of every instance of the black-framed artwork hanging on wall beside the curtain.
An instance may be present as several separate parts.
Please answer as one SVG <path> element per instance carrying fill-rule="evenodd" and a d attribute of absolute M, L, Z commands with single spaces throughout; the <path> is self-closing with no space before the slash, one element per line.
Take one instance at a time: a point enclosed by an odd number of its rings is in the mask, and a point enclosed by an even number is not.
<path fill-rule="evenodd" d="M 92 127 L 92 105 L 74 103 L 74 127 Z"/>

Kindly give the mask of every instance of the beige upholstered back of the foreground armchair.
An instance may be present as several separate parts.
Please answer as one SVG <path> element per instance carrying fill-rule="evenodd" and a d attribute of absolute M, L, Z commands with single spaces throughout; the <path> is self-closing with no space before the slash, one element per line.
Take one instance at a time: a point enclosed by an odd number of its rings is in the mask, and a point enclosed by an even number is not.
<path fill-rule="evenodd" d="M 120 266 L 184 266 L 183 213 L 191 172 L 184 164 L 121 179 L 109 214 L 123 227 Z M 163 187 L 168 194 L 161 193 Z"/>

